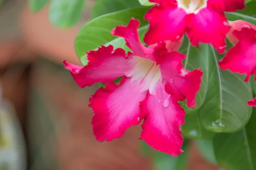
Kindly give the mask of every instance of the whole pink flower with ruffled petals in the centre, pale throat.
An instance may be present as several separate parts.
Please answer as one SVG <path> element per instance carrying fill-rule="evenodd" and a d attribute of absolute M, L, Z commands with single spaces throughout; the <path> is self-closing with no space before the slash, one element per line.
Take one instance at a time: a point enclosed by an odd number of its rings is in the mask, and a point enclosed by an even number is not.
<path fill-rule="evenodd" d="M 121 48 L 113 50 L 112 45 L 102 46 L 87 53 L 89 63 L 84 67 L 66 61 L 64 64 L 80 87 L 107 83 L 106 88 L 100 88 L 90 98 L 97 141 L 119 138 L 128 127 L 144 119 L 140 139 L 156 150 L 177 156 L 182 152 L 179 127 L 185 116 L 177 100 L 187 99 L 189 107 L 195 106 L 203 73 L 200 69 L 190 72 L 182 68 L 185 55 L 175 51 L 177 42 L 149 48 L 141 44 L 139 24 L 132 19 L 127 27 L 118 26 L 111 31 L 125 38 L 133 54 L 125 54 Z M 113 80 L 121 76 L 120 84 L 116 85 Z"/>

